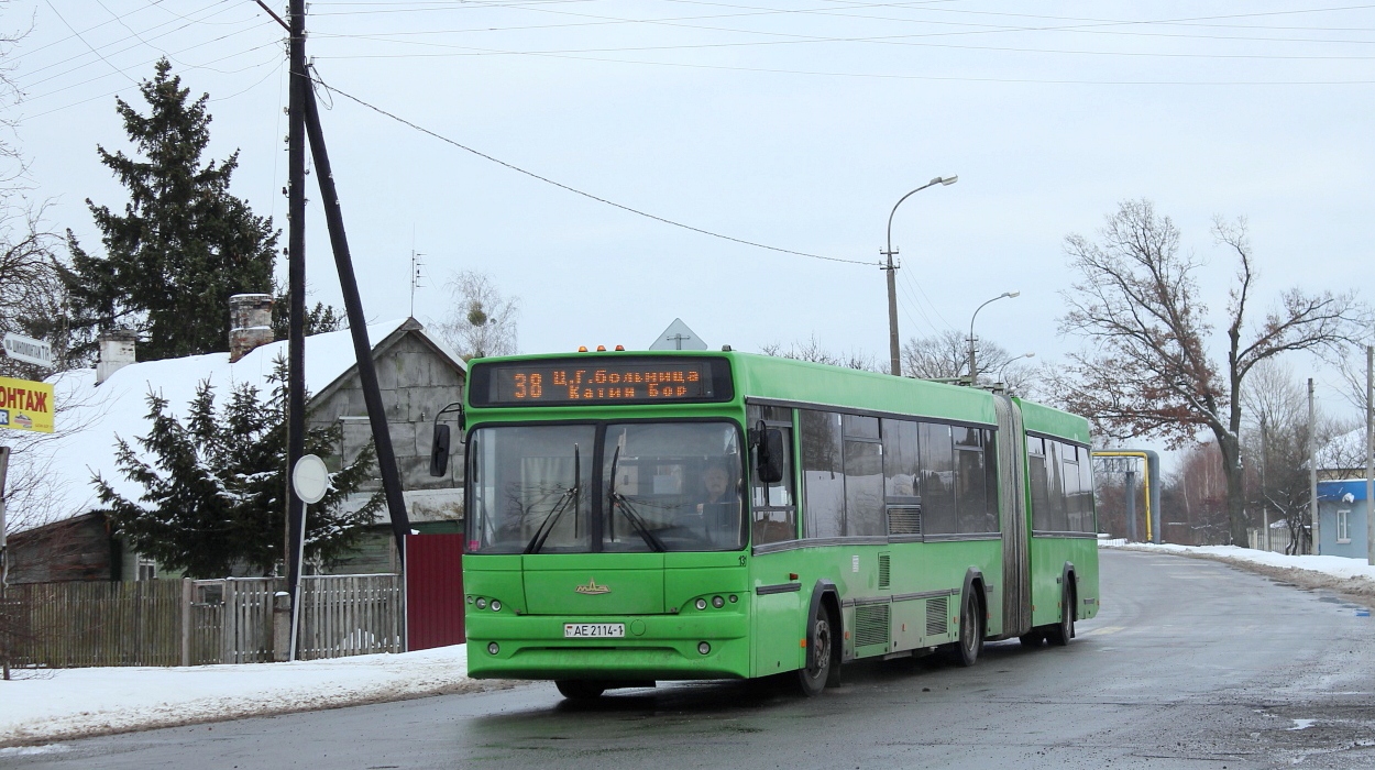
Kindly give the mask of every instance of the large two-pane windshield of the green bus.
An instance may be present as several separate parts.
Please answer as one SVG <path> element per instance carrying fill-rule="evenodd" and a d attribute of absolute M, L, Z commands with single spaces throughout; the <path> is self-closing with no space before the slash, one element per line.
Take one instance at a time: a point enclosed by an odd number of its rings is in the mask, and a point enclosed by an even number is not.
<path fill-rule="evenodd" d="M 744 461 L 730 422 L 496 426 L 474 430 L 470 441 L 470 551 L 745 544 Z"/>

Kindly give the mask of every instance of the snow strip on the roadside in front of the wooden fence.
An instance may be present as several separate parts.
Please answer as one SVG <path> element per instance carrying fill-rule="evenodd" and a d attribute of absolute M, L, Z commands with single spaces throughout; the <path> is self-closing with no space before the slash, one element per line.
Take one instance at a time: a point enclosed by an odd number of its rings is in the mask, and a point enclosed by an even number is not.
<path fill-rule="evenodd" d="M 187 668 L 16 670 L 0 681 L 0 745 L 337 708 L 455 692 L 468 648 Z M 0 749 L 4 752 L 15 749 Z"/>

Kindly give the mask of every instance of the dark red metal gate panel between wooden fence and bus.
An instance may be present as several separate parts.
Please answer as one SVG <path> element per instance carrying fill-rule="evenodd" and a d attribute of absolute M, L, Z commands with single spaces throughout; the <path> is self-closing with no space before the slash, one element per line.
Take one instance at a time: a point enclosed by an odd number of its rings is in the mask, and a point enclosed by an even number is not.
<path fill-rule="evenodd" d="M 441 648 L 465 641 L 463 535 L 407 535 L 407 649 Z"/>

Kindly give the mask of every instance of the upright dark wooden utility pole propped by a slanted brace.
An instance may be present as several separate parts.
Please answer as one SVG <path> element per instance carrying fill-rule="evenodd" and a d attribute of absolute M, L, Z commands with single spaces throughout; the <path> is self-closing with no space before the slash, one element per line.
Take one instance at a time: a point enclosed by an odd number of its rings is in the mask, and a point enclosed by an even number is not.
<path fill-rule="evenodd" d="M 287 100 L 287 366 L 286 366 L 286 560 L 287 591 L 296 597 L 305 540 L 305 503 L 292 488 L 292 469 L 305 454 L 305 0 L 292 0 Z M 294 608 L 293 608 L 294 612 Z M 292 650 L 296 660 L 296 650 Z"/>

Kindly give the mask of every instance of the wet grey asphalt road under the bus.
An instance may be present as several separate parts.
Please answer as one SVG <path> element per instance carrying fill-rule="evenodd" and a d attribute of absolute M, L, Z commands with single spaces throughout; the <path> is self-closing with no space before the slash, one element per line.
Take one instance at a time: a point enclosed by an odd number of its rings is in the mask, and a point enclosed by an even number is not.
<path fill-rule="evenodd" d="M 551 685 L 73 741 L 6 767 L 1375 767 L 1375 627 L 1211 561 L 1103 553 L 1067 648 L 846 667 L 803 700 L 729 682 Z"/>

